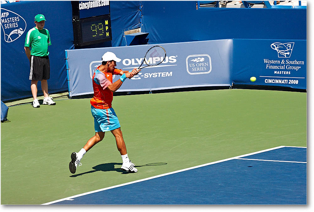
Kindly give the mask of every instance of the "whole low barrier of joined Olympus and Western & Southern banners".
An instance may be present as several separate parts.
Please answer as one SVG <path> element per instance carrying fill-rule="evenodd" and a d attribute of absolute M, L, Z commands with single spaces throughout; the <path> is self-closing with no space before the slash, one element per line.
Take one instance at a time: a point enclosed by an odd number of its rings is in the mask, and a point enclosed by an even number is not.
<path fill-rule="evenodd" d="M 167 56 L 126 80 L 119 91 L 203 86 L 268 85 L 306 89 L 306 40 L 225 39 L 161 44 Z M 67 50 L 69 96 L 93 94 L 92 76 L 104 52 L 121 58 L 123 71 L 138 68 L 153 45 Z M 160 61 L 152 57 L 149 61 Z M 143 65 L 144 66 L 144 65 Z M 119 80 L 113 76 L 113 82 Z M 255 77 L 256 81 L 250 81 Z"/>

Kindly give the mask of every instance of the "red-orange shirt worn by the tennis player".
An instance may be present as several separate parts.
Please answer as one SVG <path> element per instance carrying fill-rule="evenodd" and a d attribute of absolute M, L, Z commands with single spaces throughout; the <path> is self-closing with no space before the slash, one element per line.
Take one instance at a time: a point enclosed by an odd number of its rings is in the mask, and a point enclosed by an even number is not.
<path fill-rule="evenodd" d="M 113 73 L 107 72 L 102 73 L 96 68 L 93 74 L 93 89 L 94 97 L 90 100 L 90 104 L 97 109 L 108 109 L 111 108 L 113 99 L 113 93 L 111 90 L 106 89 L 112 84 L 112 74 L 120 75 L 121 70 L 115 69 Z"/>

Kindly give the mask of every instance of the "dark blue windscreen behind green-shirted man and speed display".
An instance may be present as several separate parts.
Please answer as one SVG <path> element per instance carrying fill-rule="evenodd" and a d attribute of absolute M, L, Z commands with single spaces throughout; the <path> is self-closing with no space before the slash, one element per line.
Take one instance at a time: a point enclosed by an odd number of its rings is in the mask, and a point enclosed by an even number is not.
<path fill-rule="evenodd" d="M 84 46 L 97 48 L 107 46 L 126 46 L 124 31 L 140 27 L 139 1 L 110 1 L 112 41 Z M 12 101 L 31 97 L 30 64 L 24 51 L 24 42 L 28 30 L 35 26 L 36 14 L 44 14 L 45 28 L 51 36 L 48 51 L 50 59 L 49 93 L 68 90 L 66 62 L 64 51 L 74 49 L 72 5 L 71 1 L 20 1 L 1 4 L 3 24 L 1 29 L 1 100 Z M 6 15 L 8 14 L 8 17 Z M 9 21 L 7 21 L 7 18 Z M 13 19 L 12 19 L 13 18 Z M 16 19 L 14 19 L 16 18 Z M 25 20 L 25 21 L 24 21 Z M 4 25 L 11 24 L 11 25 Z M 14 25 L 13 25 L 14 24 Z M 19 30 L 22 28 L 22 31 Z M 12 34 L 12 42 L 8 36 L 14 30 L 22 34 Z M 14 32 L 13 32 L 14 33 Z M 6 37 L 5 37 L 5 34 Z M 9 38 L 9 41 L 10 38 Z M 38 83 L 38 95 L 42 95 L 41 83 Z"/>

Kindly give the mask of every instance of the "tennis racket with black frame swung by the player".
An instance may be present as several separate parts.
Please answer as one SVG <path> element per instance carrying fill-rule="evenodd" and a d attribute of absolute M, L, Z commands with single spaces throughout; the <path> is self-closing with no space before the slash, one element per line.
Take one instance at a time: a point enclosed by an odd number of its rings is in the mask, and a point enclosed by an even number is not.
<path fill-rule="evenodd" d="M 143 62 L 138 67 L 138 69 L 141 68 L 143 63 L 145 63 L 147 66 L 144 66 L 142 68 L 146 68 L 149 66 L 157 66 L 160 63 L 164 62 L 165 58 L 166 58 L 166 50 L 162 46 L 153 46 L 146 52 L 146 55 L 143 58 Z"/>

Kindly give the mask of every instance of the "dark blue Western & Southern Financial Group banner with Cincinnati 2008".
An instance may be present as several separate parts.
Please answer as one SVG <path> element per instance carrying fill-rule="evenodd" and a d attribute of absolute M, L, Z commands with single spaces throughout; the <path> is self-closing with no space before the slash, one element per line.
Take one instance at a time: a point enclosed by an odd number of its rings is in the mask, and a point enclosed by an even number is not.
<path fill-rule="evenodd" d="M 235 39 L 232 82 L 306 89 L 306 40 Z"/>

